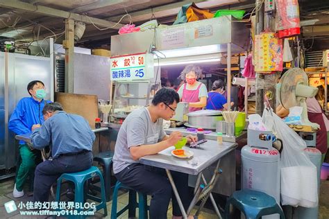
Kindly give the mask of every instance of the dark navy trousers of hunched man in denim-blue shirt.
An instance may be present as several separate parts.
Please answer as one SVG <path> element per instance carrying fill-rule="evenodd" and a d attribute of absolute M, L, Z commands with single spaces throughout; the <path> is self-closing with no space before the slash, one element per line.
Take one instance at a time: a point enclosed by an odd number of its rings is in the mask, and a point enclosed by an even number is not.
<path fill-rule="evenodd" d="M 51 185 L 62 173 L 74 173 L 87 170 L 92 166 L 92 152 L 80 155 L 60 156 L 47 160 L 35 168 L 33 189 L 34 202 L 48 202 Z"/>

